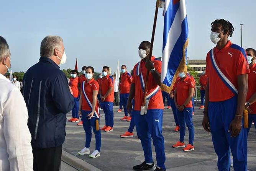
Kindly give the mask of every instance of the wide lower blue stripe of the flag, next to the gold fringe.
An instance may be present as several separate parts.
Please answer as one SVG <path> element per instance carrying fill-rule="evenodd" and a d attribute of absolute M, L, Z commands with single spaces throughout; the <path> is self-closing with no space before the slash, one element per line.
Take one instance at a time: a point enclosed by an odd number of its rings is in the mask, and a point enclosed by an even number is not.
<path fill-rule="evenodd" d="M 166 74 L 166 77 L 164 78 L 164 81 L 162 82 L 167 86 L 171 86 L 174 74 L 177 68 L 179 67 L 181 59 L 183 57 L 183 46 L 187 41 L 187 37 L 189 34 L 189 28 L 187 25 L 187 16 L 182 21 L 181 27 L 182 27 L 181 35 L 179 36 L 179 39 L 177 40 L 172 50 L 172 53 L 170 55 L 170 59 L 168 62 L 167 74 Z M 185 56 L 186 56 L 186 64 L 187 64 L 187 50 L 186 50 Z"/>

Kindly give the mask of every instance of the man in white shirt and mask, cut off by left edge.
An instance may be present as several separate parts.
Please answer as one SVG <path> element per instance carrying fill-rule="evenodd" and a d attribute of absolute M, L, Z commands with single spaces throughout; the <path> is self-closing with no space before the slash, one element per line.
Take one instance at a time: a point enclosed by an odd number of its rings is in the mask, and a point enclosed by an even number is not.
<path fill-rule="evenodd" d="M 0 36 L 0 170 L 33 171 L 26 103 L 18 88 L 4 76 L 10 63 L 9 46 Z"/>

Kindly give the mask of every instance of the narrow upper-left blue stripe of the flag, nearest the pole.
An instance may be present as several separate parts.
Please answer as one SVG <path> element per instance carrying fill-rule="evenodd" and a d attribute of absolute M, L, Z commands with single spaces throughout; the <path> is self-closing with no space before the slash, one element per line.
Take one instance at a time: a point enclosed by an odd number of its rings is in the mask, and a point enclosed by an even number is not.
<path fill-rule="evenodd" d="M 168 37 L 168 33 L 170 31 L 170 28 L 172 26 L 172 23 L 174 21 L 175 15 L 180 7 L 180 3 L 176 3 L 174 6 L 172 6 L 172 0 L 169 3 L 169 7 L 168 10 L 166 11 L 165 15 L 164 15 L 164 38 L 163 38 L 163 46 L 162 46 L 162 50 L 164 50 L 164 47 L 166 46 L 166 41 L 167 41 L 167 37 Z"/>

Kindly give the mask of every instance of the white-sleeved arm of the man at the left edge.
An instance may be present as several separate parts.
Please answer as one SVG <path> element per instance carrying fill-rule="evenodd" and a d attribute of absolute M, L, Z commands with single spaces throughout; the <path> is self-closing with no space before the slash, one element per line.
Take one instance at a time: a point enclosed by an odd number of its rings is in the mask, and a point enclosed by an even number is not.
<path fill-rule="evenodd" d="M 15 107 L 13 107 L 15 106 Z M 13 118 L 18 118 L 13 124 Z M 3 136 L 7 144 L 10 170 L 33 170 L 31 134 L 28 129 L 28 111 L 18 90 L 12 90 L 3 103 Z"/>

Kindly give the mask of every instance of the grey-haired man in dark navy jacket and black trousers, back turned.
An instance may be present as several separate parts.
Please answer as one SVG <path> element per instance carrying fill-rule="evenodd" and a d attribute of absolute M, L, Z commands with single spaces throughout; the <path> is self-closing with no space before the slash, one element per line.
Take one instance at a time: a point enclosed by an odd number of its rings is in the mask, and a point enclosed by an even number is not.
<path fill-rule="evenodd" d="M 41 42 L 39 62 L 23 78 L 34 171 L 60 170 L 66 114 L 74 106 L 72 90 L 58 66 L 66 62 L 64 50 L 61 37 L 46 36 Z"/>

